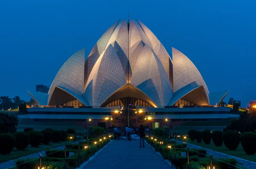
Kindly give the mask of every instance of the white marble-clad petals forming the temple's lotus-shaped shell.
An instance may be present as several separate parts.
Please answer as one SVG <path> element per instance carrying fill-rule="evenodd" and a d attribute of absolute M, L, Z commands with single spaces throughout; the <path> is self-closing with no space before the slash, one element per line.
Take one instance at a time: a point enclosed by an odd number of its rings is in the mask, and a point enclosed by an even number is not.
<path fill-rule="evenodd" d="M 81 49 L 64 63 L 52 82 L 48 98 L 53 87 L 58 86 L 83 97 L 80 99 L 90 106 L 100 106 L 120 87 L 131 83 L 157 107 L 164 107 L 170 101 L 175 102 L 180 89 L 194 82 L 195 86 L 203 86 L 210 103 L 207 85 L 195 65 L 175 48 L 172 48 L 172 58 L 173 61 L 143 23 L 117 21 L 102 35 L 87 58 Z M 184 88 L 182 91 L 185 96 L 191 92 Z M 222 100 L 222 94 L 227 93 L 212 95 L 212 100 Z"/>

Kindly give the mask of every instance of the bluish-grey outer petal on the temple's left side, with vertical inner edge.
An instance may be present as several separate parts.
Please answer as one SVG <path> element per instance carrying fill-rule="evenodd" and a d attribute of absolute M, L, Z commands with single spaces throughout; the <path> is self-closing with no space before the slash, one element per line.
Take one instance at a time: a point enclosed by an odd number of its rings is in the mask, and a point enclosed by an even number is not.
<path fill-rule="evenodd" d="M 61 66 L 49 89 L 49 98 L 54 86 L 65 87 L 75 93 L 83 94 L 84 90 L 84 48 L 73 54 Z"/>

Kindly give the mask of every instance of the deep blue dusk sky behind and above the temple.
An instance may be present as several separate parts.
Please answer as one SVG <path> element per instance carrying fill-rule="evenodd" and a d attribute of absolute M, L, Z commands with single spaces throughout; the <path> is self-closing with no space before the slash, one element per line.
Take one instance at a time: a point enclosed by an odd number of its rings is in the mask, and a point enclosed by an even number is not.
<path fill-rule="evenodd" d="M 119 19 L 139 19 L 183 52 L 209 92 L 230 90 L 242 107 L 256 100 L 255 0 L 0 0 L 0 96 L 51 85 L 76 51 L 86 56 Z"/>

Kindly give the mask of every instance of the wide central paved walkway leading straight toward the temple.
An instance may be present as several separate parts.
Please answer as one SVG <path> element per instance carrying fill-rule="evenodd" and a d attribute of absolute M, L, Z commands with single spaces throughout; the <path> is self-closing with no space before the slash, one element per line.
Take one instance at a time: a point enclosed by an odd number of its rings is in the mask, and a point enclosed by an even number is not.
<path fill-rule="evenodd" d="M 112 141 L 83 169 L 168 169 L 171 166 L 148 144 L 139 141 Z"/>

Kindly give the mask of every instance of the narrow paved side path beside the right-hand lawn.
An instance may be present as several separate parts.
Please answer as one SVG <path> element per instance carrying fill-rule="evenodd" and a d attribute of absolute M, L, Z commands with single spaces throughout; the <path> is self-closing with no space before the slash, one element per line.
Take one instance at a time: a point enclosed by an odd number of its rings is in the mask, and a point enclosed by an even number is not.
<path fill-rule="evenodd" d="M 174 140 L 173 140 L 174 141 Z M 178 144 L 182 144 L 182 143 L 185 143 L 183 141 L 177 141 L 175 140 Z M 203 148 L 205 149 L 204 147 L 201 147 L 201 146 L 196 146 L 194 144 L 189 144 L 189 143 L 186 143 L 189 148 Z M 233 156 L 230 156 L 230 155 L 227 155 L 227 154 L 223 154 L 221 152 L 215 152 L 213 150 L 210 150 L 210 149 L 206 149 L 207 150 L 207 154 L 210 155 L 212 154 L 213 157 L 215 158 L 234 158 L 236 159 L 239 163 L 241 163 L 242 166 L 248 168 L 248 169 L 256 169 L 256 163 L 255 162 L 252 162 L 252 161 L 247 161 L 247 160 L 244 160 L 244 159 L 241 159 L 241 158 L 236 158 L 236 157 L 233 157 Z"/>

